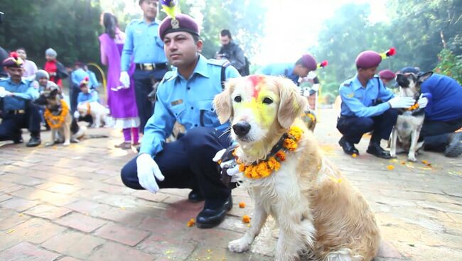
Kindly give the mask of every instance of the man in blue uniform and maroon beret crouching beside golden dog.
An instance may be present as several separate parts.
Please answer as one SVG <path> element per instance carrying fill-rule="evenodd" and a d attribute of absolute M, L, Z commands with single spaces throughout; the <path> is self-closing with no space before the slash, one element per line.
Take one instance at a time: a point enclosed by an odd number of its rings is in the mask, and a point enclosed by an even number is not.
<path fill-rule="evenodd" d="M 198 24 L 178 14 L 163 20 L 159 35 L 171 65 L 157 90 L 154 114 L 144 130 L 138 157 L 122 169 L 122 182 L 132 189 L 156 192 L 159 188 L 193 189 L 188 199 L 205 199 L 197 216 L 199 228 L 217 226 L 232 207 L 231 190 L 220 180 L 215 154 L 231 145 L 229 123 L 220 124 L 213 98 L 222 91 L 222 78 L 239 77 L 226 61 L 202 55 Z M 223 75 L 223 77 L 222 77 Z M 166 143 L 178 121 L 186 133 Z"/>

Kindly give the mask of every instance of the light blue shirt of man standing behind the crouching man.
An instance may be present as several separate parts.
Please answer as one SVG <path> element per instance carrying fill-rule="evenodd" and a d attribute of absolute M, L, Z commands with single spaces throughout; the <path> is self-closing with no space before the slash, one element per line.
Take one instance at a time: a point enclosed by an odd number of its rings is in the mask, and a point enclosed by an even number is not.
<path fill-rule="evenodd" d="M 157 21 L 146 23 L 144 19 L 134 19 L 125 29 L 125 34 L 120 70 L 124 72 L 129 70 L 132 55 L 134 63 L 167 62 L 165 52 L 163 52 L 163 42 L 159 38 Z"/>

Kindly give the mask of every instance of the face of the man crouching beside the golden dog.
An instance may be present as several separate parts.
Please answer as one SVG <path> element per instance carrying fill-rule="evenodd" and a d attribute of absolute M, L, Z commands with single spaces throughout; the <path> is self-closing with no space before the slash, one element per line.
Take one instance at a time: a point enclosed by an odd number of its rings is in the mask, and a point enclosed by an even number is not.
<path fill-rule="evenodd" d="M 193 35 L 186 32 L 167 33 L 163 38 L 163 50 L 171 65 L 181 69 L 195 63 L 202 41 L 194 42 Z"/>

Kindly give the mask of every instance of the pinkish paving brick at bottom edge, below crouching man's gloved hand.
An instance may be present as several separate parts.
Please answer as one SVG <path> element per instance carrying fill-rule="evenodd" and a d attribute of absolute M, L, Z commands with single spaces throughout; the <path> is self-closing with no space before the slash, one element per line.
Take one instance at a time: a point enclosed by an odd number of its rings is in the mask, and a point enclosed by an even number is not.
<path fill-rule="evenodd" d="M 107 242 L 102 248 L 96 250 L 88 260 L 92 261 L 117 261 L 117 260 L 136 260 L 136 261 L 151 261 L 154 257 L 136 250 L 129 248 L 125 245 Z"/>

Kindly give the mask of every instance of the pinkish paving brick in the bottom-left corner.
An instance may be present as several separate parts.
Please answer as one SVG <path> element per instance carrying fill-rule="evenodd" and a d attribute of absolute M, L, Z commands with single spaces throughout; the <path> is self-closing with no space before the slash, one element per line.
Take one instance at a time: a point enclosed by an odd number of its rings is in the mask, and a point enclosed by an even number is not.
<path fill-rule="evenodd" d="M 8 261 L 53 261 L 59 254 L 43 250 L 31 243 L 22 242 L 0 252 L 0 260 Z"/>

